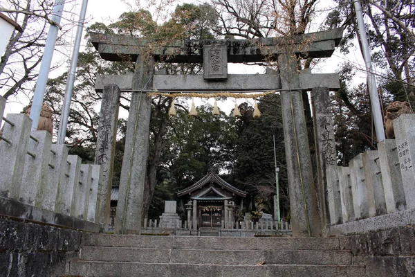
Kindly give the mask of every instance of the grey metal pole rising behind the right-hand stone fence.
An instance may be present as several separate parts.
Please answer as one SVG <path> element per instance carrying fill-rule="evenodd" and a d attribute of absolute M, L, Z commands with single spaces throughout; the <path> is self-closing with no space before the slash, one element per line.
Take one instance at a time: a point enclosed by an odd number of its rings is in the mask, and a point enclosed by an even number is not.
<path fill-rule="evenodd" d="M 374 123 L 376 131 L 376 139 L 378 141 L 385 141 L 385 130 L 383 129 L 382 111 L 380 110 L 380 101 L 378 96 L 378 89 L 376 89 L 376 80 L 371 64 L 371 57 L 369 52 L 369 44 L 367 42 L 365 23 L 363 22 L 362 6 L 360 0 L 354 1 L 356 10 L 356 17 L 358 19 L 360 41 L 362 42 L 362 51 L 365 58 L 367 70 L 367 86 L 369 88 L 369 96 L 371 101 L 371 108 L 374 114 Z"/>

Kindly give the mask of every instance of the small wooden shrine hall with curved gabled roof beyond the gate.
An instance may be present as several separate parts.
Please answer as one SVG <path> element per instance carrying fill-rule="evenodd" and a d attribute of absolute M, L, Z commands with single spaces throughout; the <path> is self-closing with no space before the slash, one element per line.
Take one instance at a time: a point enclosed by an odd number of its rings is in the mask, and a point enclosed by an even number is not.
<path fill-rule="evenodd" d="M 187 210 L 188 222 L 193 228 L 221 228 L 234 221 L 235 203 L 243 206 L 246 192 L 239 190 L 221 179 L 214 172 L 209 172 L 192 186 L 177 193 Z"/>

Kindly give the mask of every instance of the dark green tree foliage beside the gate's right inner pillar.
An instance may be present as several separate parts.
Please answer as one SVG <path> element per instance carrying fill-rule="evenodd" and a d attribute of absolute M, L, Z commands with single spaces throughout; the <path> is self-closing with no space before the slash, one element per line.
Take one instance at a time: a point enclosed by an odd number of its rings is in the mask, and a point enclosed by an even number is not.
<path fill-rule="evenodd" d="M 239 105 L 241 117 L 237 118 L 237 144 L 232 168 L 234 185 L 248 192 L 252 203 L 261 201 L 264 211 L 272 213 L 275 195 L 274 143 L 279 174 L 279 194 L 282 206 L 288 210 L 288 181 L 279 96 L 267 96 L 258 103 L 260 118 L 252 118 L 253 108 L 244 102 Z M 249 204 L 249 203 L 246 203 Z M 246 207 L 248 208 L 248 206 Z"/>

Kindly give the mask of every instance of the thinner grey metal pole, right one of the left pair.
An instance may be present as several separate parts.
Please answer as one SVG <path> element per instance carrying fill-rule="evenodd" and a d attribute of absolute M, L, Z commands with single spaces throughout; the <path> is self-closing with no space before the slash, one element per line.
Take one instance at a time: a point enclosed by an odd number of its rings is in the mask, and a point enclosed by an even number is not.
<path fill-rule="evenodd" d="M 76 72 L 76 66 L 77 66 L 77 59 L 78 59 L 78 55 L 80 53 L 82 31 L 84 30 L 84 22 L 85 22 L 85 15 L 86 15 L 86 7 L 87 6 L 88 6 L 88 0 L 83 0 L 82 1 L 82 6 L 81 6 L 80 19 L 79 19 L 78 26 L 77 26 L 77 31 L 76 31 L 75 45 L 73 46 L 71 67 L 69 69 L 68 79 L 66 80 L 64 106 L 62 108 L 62 114 L 61 114 L 61 118 L 60 118 L 59 129 L 57 131 L 57 143 L 58 144 L 64 144 L 65 143 L 66 127 L 68 125 L 69 111 L 71 109 L 71 98 L 72 98 L 73 84 L 75 82 L 75 72 Z"/>

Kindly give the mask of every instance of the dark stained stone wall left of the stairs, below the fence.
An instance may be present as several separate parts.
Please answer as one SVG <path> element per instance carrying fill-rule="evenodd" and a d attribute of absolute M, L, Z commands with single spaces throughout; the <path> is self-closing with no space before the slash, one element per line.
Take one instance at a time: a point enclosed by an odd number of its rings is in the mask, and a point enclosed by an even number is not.
<path fill-rule="evenodd" d="M 0 276 L 63 276 L 90 233 L 0 216 Z"/>

